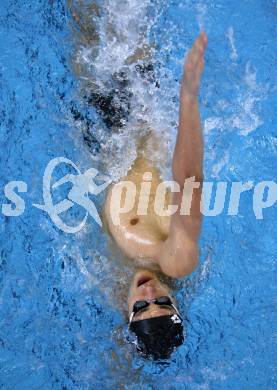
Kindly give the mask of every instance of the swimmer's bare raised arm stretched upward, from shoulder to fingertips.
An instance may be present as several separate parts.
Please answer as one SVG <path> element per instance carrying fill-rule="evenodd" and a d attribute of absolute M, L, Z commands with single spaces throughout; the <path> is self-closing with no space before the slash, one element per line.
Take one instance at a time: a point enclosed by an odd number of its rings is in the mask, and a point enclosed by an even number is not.
<path fill-rule="evenodd" d="M 178 211 L 171 217 L 170 232 L 161 246 L 159 264 L 172 277 L 191 273 L 198 262 L 198 237 L 201 228 L 200 199 L 203 181 L 203 139 L 198 111 L 198 90 L 204 67 L 207 36 L 201 33 L 195 40 L 185 62 L 180 91 L 179 131 L 173 155 L 173 179 L 181 191 L 173 194 L 172 204 Z M 191 198 L 189 215 L 181 215 L 182 195 L 186 179 L 195 177 L 200 183 Z M 189 196 L 188 196 L 189 198 Z"/>

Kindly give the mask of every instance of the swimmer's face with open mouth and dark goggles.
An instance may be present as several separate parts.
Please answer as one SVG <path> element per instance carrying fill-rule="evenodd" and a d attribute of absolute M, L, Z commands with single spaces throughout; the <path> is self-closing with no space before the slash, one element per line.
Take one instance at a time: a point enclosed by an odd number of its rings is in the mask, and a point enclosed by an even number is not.
<path fill-rule="evenodd" d="M 150 271 L 139 271 L 135 274 L 128 299 L 129 316 L 131 315 L 134 303 L 137 301 L 148 301 L 162 296 L 169 296 L 169 289 L 162 284 L 156 275 Z M 147 318 L 175 314 L 175 310 L 169 306 L 159 306 L 151 303 L 145 310 L 135 314 L 133 321 L 145 320 Z"/>

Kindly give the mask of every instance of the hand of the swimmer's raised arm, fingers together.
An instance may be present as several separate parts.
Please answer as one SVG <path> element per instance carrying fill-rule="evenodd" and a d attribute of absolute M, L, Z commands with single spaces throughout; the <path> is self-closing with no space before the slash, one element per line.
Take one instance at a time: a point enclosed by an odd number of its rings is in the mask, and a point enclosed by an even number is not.
<path fill-rule="evenodd" d="M 204 52 L 208 43 L 204 32 L 196 38 L 185 61 L 182 80 L 182 95 L 190 98 L 198 96 L 200 78 L 204 67 Z"/>

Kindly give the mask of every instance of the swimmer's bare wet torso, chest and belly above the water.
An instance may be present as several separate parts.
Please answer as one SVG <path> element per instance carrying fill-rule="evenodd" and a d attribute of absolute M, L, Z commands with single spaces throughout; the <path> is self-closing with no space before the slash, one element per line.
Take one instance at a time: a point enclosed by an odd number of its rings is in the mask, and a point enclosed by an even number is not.
<path fill-rule="evenodd" d="M 169 193 L 167 192 L 164 197 L 161 191 L 160 196 L 156 196 L 156 189 L 161 179 L 158 170 L 144 157 L 135 160 L 120 182 L 122 181 L 130 181 L 136 186 L 134 207 L 131 211 L 117 214 L 119 223 L 117 225 L 113 223 L 112 213 L 116 212 L 115 208 L 117 208 L 113 192 L 115 185 L 113 185 L 109 189 L 105 205 L 109 231 L 128 257 L 157 262 L 160 245 L 168 237 L 170 217 L 158 216 L 154 207 L 156 210 L 157 207 L 166 208 L 169 203 Z M 123 195 L 119 203 L 123 207 L 125 194 L 124 191 L 121 193 Z M 146 215 L 140 215 L 142 213 Z"/>

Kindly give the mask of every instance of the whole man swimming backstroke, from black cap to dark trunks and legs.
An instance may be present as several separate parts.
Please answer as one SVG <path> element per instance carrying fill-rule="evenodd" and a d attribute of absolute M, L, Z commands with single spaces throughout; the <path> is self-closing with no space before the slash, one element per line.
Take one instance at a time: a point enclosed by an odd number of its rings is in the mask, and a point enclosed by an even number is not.
<path fill-rule="evenodd" d="M 97 57 L 100 37 L 92 21 L 101 15 L 99 5 L 92 2 L 89 9 L 85 8 L 83 12 L 82 3 L 68 0 L 68 4 L 76 24 L 77 36 L 81 32 L 80 47 L 85 45 Z M 107 37 L 113 42 L 116 38 L 119 42 L 120 34 L 117 34 L 111 15 L 108 15 L 106 28 Z M 149 158 L 152 152 L 153 155 L 161 155 L 163 151 L 155 132 L 149 129 L 146 121 L 140 119 L 137 128 L 141 128 L 142 135 L 137 158 L 127 175 L 110 186 L 104 206 L 110 234 L 122 252 L 139 266 L 129 291 L 129 329 L 136 336 L 137 349 L 144 356 L 154 359 L 168 358 L 184 340 L 183 320 L 177 304 L 169 287 L 160 282 L 158 272 L 171 278 L 180 278 L 190 274 L 198 263 L 203 182 L 203 140 L 198 92 L 207 41 L 206 34 L 202 32 L 188 53 L 184 66 L 179 129 L 172 159 L 173 180 L 178 190 L 172 187 L 171 192 L 165 190 L 155 159 L 152 161 Z M 137 43 L 133 55 L 123 61 L 126 66 L 112 73 L 110 78 L 105 78 L 104 82 L 99 82 L 86 68 L 82 70 L 79 61 L 76 62 L 77 75 L 87 81 L 83 97 L 89 105 L 94 106 L 109 134 L 117 133 L 128 123 L 132 110 L 132 72 L 159 88 L 151 62 L 151 47 L 144 44 L 142 37 Z M 77 120 L 83 120 L 84 142 L 93 154 L 98 153 L 101 147 L 91 131 L 93 126 L 90 119 L 83 116 L 75 106 L 72 107 L 72 114 Z M 136 120 L 132 123 L 135 124 Z M 128 191 L 126 183 L 133 191 Z M 122 204 L 126 206 L 127 197 L 131 207 L 126 208 Z M 164 212 L 165 208 L 169 210 L 172 207 L 170 205 L 174 205 L 175 212 Z"/>

